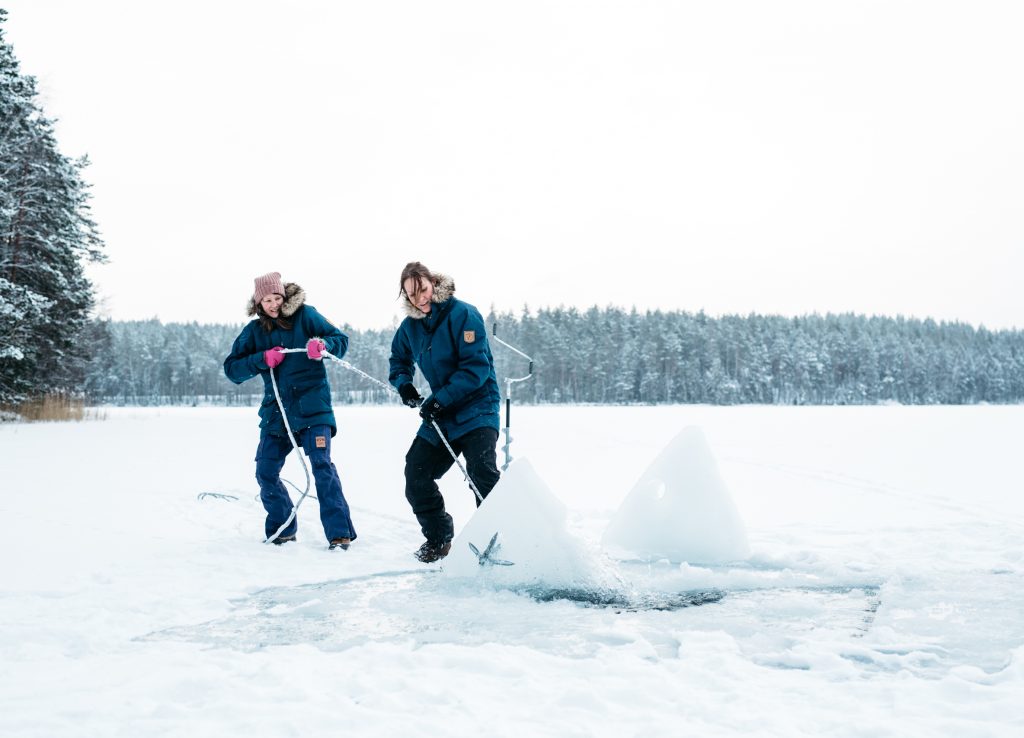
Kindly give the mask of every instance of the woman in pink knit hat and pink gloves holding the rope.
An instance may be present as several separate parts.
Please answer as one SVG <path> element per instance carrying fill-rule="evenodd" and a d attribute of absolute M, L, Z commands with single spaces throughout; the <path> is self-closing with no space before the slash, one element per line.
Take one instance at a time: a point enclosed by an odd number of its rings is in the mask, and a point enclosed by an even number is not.
<path fill-rule="evenodd" d="M 344 356 L 348 337 L 312 305 L 305 304 L 302 288 L 294 283 L 283 284 L 279 272 L 263 274 L 255 281 L 248 310 L 255 318 L 234 340 L 230 355 L 224 359 L 224 374 L 236 384 L 256 376 L 263 378 L 256 481 L 266 510 L 266 536 L 270 538 L 284 525 L 293 508 L 280 476 L 285 458 L 292 450 L 292 441 L 274 398 L 272 370 L 276 373 L 288 424 L 312 468 L 324 533 L 331 549 L 348 549 L 355 539 L 355 528 L 338 470 L 331 462 L 331 439 L 338 432 L 338 425 L 323 361 L 325 350 L 338 358 Z M 301 348 L 305 353 L 286 354 L 282 352 L 285 348 Z M 298 520 L 293 519 L 273 542 L 295 540 L 297 529 Z"/>

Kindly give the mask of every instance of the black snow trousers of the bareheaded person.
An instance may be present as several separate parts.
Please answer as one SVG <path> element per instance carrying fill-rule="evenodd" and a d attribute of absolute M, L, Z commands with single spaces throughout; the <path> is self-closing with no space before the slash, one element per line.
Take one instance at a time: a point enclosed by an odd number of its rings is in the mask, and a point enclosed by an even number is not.
<path fill-rule="evenodd" d="M 495 451 L 498 431 L 477 428 L 450 442 L 455 452 L 465 460 L 466 471 L 480 495 L 487 496 L 501 477 Z M 443 443 L 435 446 L 419 436 L 413 439 L 406 454 L 406 500 L 420 521 L 423 537 L 431 544 L 443 544 L 455 535 L 452 516 L 444 511 L 444 497 L 435 481 L 444 476 L 453 464 L 455 460 Z M 476 505 L 479 507 L 479 501 Z"/>

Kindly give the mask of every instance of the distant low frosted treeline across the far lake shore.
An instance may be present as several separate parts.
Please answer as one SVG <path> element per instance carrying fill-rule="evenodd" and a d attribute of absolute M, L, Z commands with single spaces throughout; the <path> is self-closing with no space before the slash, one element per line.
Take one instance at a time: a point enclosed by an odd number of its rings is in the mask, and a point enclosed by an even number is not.
<path fill-rule="evenodd" d="M 487 316 L 536 360 L 517 402 L 970 404 L 1024 400 L 1024 332 L 863 315 L 710 317 L 620 308 Z M 91 401 L 251 404 L 262 383 L 236 386 L 221 363 L 241 325 L 98 322 L 86 380 Z M 345 357 L 387 380 L 393 330 L 355 331 Z M 498 379 L 527 362 L 493 342 Z M 331 362 L 338 402 L 393 397 Z M 420 380 L 418 380 L 419 384 Z"/>

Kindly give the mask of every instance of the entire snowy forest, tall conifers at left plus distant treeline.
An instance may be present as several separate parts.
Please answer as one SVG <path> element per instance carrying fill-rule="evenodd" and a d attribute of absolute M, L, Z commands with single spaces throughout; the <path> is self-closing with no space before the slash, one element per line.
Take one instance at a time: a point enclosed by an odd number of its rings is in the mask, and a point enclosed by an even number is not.
<path fill-rule="evenodd" d="M 3 38 L 0 10 L 0 405 L 45 395 L 116 404 L 249 404 L 262 387 L 224 379 L 240 325 L 90 318 L 89 261 L 103 244 L 87 165 L 60 154 L 53 122 Z M 1024 400 L 1024 333 L 855 314 L 726 315 L 617 307 L 487 316 L 536 358 L 532 403 L 906 404 Z M 355 331 L 348 360 L 387 376 L 391 330 Z M 525 361 L 495 346 L 499 378 Z M 335 400 L 391 402 L 337 364 Z"/>

